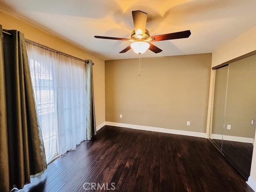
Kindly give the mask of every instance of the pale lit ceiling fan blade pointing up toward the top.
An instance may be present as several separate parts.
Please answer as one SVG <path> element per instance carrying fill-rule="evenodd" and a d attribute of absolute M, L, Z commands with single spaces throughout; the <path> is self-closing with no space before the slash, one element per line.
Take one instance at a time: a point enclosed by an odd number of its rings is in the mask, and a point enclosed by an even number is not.
<path fill-rule="evenodd" d="M 132 11 L 135 34 L 144 36 L 148 14 L 142 11 Z"/>

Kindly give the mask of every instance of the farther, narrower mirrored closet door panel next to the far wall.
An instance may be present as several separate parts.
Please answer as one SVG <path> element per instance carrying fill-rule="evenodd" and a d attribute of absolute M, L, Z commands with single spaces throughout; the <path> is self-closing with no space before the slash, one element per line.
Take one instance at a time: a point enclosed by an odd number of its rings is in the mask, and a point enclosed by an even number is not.
<path fill-rule="evenodd" d="M 211 139 L 220 149 L 222 148 L 227 78 L 228 66 L 216 70 Z"/>

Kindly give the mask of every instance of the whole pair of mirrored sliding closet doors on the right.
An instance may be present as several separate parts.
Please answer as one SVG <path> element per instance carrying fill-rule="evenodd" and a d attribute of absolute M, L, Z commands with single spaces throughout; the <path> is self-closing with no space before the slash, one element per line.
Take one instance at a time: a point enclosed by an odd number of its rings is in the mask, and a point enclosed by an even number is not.
<path fill-rule="evenodd" d="M 246 178 L 256 127 L 256 55 L 216 69 L 211 140 Z"/>

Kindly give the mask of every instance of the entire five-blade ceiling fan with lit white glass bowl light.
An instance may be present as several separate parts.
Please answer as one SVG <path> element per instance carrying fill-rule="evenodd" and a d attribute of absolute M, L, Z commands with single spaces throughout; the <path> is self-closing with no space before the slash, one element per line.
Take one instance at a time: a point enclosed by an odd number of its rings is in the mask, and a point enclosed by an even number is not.
<path fill-rule="evenodd" d="M 131 33 L 131 38 L 116 38 L 116 37 L 105 37 L 105 36 L 94 36 L 100 39 L 112 39 L 112 40 L 123 40 L 131 41 L 132 43 L 119 53 L 125 53 L 131 48 L 135 53 L 143 54 L 147 49 L 154 53 L 159 53 L 162 50 L 150 42 L 163 41 L 171 39 L 188 38 L 191 34 L 190 30 L 180 31 L 175 33 L 168 33 L 163 35 L 150 36 L 148 30 L 146 30 L 148 14 L 143 11 L 132 11 L 132 18 L 134 23 L 134 30 Z"/>

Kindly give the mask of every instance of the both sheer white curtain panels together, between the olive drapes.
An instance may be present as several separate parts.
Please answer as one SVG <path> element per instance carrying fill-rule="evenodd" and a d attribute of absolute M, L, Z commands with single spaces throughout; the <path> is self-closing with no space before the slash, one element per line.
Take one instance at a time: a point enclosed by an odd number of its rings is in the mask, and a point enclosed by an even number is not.
<path fill-rule="evenodd" d="M 84 62 L 26 43 L 46 160 L 86 139 Z"/>

